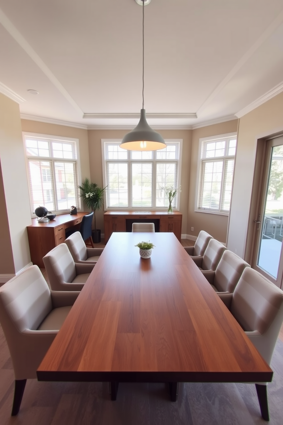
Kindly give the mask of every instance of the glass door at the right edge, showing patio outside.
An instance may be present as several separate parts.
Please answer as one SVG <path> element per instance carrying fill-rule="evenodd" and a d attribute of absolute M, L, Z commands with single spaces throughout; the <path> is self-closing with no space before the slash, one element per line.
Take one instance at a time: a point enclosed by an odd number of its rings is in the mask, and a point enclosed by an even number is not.
<path fill-rule="evenodd" d="M 283 275 L 283 137 L 269 140 L 252 267 L 277 286 Z"/>

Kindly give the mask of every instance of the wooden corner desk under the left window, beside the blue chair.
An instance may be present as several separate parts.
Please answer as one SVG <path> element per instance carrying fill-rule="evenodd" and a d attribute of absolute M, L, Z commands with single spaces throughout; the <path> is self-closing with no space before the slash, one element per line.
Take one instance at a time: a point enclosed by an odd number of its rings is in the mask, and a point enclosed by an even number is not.
<path fill-rule="evenodd" d="M 76 226 L 79 229 L 81 219 L 86 214 L 88 212 L 56 215 L 54 220 L 50 220 L 48 223 L 39 223 L 37 218 L 33 218 L 32 224 L 27 226 L 31 261 L 44 269 L 42 258 L 55 246 L 64 242 L 66 239 L 65 229 Z"/>

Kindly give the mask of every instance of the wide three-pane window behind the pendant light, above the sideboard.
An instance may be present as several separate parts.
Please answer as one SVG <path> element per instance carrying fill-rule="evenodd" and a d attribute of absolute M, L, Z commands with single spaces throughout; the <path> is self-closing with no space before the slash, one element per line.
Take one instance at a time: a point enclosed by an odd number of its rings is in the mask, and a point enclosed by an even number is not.
<path fill-rule="evenodd" d="M 106 209 L 156 210 L 168 207 L 164 187 L 179 186 L 182 140 L 165 140 L 154 151 L 120 148 L 121 140 L 102 140 Z M 179 205 L 178 195 L 174 208 Z"/>

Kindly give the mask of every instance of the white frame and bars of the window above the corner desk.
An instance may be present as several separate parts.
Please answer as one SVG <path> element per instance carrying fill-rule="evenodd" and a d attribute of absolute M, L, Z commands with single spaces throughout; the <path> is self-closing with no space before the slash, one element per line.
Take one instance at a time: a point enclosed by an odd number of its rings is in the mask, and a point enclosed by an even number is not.
<path fill-rule="evenodd" d="M 43 141 L 48 142 L 71 142 L 74 144 L 74 147 L 76 149 L 76 159 L 65 159 L 65 158 L 55 158 L 52 156 L 28 156 L 26 153 L 26 145 L 25 145 L 25 139 L 41 139 Z M 31 207 L 31 217 L 36 217 L 34 211 L 33 211 L 33 205 L 32 205 L 32 194 L 31 194 L 31 187 L 30 187 L 30 177 L 29 177 L 29 168 L 28 168 L 28 161 L 30 160 L 39 160 L 39 161 L 51 161 L 52 163 L 55 161 L 60 162 L 75 162 L 75 172 L 76 172 L 76 207 L 77 210 L 81 210 L 81 198 L 79 197 L 79 191 L 78 191 L 78 185 L 81 185 L 81 167 L 80 167 L 80 158 L 79 158 L 79 140 L 70 138 L 70 137 L 62 137 L 62 136 L 53 136 L 50 134 L 40 134 L 40 133 L 29 133 L 29 132 L 22 132 L 22 140 L 24 144 L 24 150 L 25 150 L 25 165 L 26 165 L 26 172 L 27 172 L 27 178 L 28 178 L 28 191 L 29 191 L 29 197 L 30 197 L 30 207 Z M 52 183 L 52 179 L 51 179 Z M 55 193 L 56 190 L 56 183 L 54 182 L 53 191 Z M 69 212 L 70 210 L 52 210 L 53 213 L 59 215 L 64 214 L 66 212 Z"/>

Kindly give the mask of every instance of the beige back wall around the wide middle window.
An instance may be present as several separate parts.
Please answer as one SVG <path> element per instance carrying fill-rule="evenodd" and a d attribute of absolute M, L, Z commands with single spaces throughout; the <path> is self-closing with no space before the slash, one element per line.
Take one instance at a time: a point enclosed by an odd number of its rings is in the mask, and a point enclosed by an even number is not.
<path fill-rule="evenodd" d="M 187 229 L 187 211 L 188 211 L 188 189 L 190 179 L 191 162 L 191 130 L 157 130 L 164 139 L 183 139 L 182 147 L 182 167 L 181 167 L 181 194 L 180 194 L 180 212 L 182 218 L 182 233 Z M 122 139 L 129 130 L 89 130 L 89 154 L 90 154 L 90 178 L 93 183 L 102 187 L 102 153 L 101 139 Z M 104 210 L 96 213 L 97 227 L 104 232 L 103 223 Z"/>

